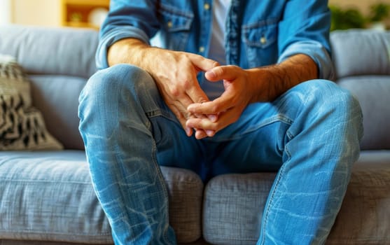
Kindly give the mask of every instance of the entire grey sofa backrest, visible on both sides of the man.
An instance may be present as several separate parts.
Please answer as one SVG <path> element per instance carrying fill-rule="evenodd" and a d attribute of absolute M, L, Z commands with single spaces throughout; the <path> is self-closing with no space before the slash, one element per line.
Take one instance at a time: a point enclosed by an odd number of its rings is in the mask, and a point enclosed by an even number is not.
<path fill-rule="evenodd" d="M 362 149 L 390 149 L 390 31 L 333 31 L 336 82 L 363 110 Z M 66 148 L 83 148 L 78 94 L 95 73 L 98 33 L 90 29 L 0 27 L 0 53 L 13 55 L 32 80 L 34 106 Z"/>

